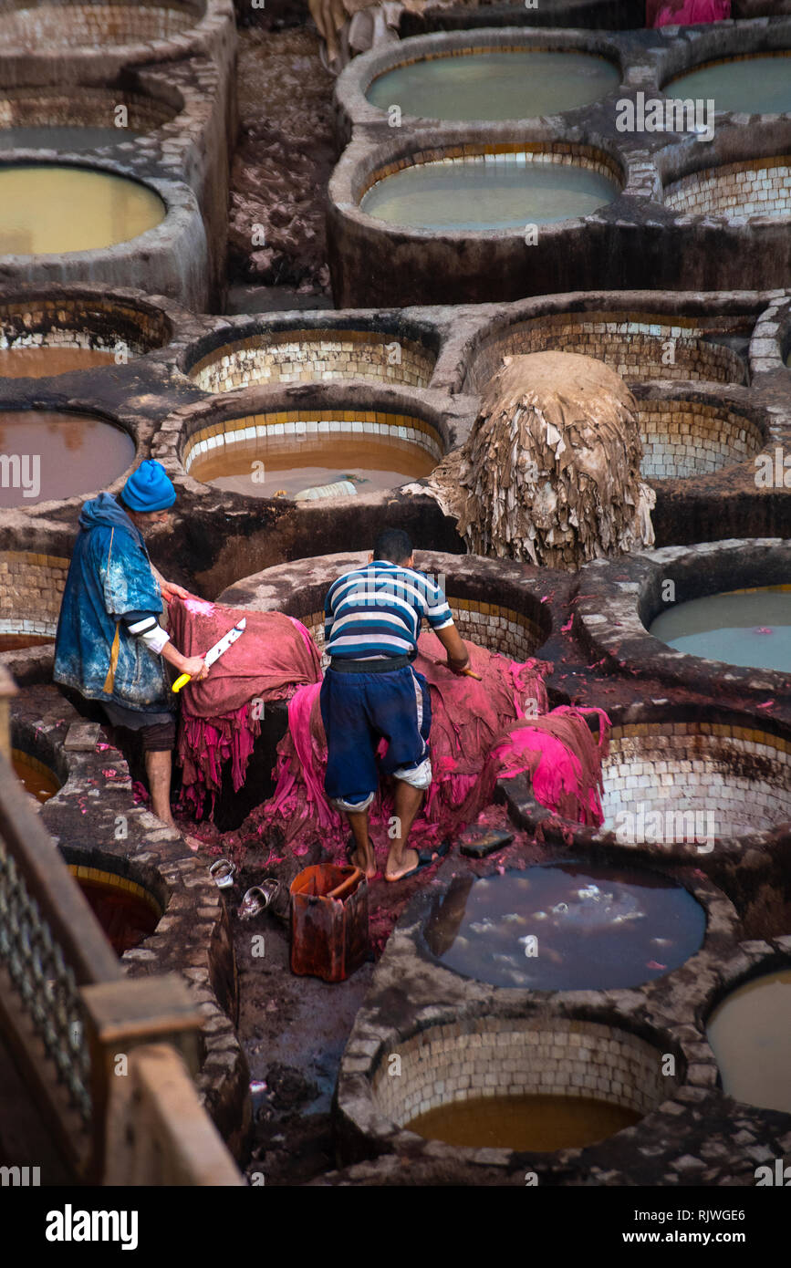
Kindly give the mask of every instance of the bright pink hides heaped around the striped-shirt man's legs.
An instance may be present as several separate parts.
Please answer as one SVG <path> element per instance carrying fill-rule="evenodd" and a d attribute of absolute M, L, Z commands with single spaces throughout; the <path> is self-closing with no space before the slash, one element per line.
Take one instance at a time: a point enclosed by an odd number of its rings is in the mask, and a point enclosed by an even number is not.
<path fill-rule="evenodd" d="M 598 825 L 606 714 L 567 708 L 546 714 L 546 663 L 531 659 L 522 664 L 472 643 L 466 648 L 480 682 L 456 677 L 437 663 L 444 652 L 434 634 L 420 638 L 415 668 L 425 675 L 431 692 L 434 781 L 411 843 L 420 850 L 453 836 L 491 801 L 498 776 L 520 772 L 531 775 L 543 805 L 576 823 Z M 326 848 L 336 851 L 349 837 L 345 817 L 325 796 L 327 748 L 318 694 L 319 685 L 312 685 L 292 697 L 289 730 L 278 748 L 275 794 L 251 817 L 261 833 L 283 828 L 297 855 L 317 836 Z M 586 713 L 598 716 L 598 741 Z M 382 741 L 380 749 L 384 744 Z M 385 839 L 392 809 L 392 789 L 383 781 L 370 822 L 374 832 L 382 829 L 375 834 L 384 833 Z"/>

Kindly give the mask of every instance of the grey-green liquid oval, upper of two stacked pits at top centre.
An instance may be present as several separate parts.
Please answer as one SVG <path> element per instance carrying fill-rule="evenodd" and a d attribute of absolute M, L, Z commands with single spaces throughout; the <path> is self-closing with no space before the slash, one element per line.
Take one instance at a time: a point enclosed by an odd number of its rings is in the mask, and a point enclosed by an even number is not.
<path fill-rule="evenodd" d="M 535 119 L 597 101 L 619 82 L 612 62 L 588 53 L 460 51 L 385 71 L 366 96 L 426 119 Z"/>

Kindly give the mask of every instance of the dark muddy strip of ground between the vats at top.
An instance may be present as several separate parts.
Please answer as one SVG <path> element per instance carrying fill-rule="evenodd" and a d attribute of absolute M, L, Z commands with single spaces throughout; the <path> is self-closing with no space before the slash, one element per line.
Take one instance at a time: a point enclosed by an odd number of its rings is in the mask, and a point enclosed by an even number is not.
<path fill-rule="evenodd" d="M 305 9 L 307 13 L 307 9 Z M 231 288 L 297 292 L 330 307 L 326 189 L 336 153 L 333 77 L 308 25 L 240 30 L 241 129 L 231 170 Z M 254 243 L 260 226 L 264 242 Z M 271 297 L 271 307 L 295 307 Z"/>

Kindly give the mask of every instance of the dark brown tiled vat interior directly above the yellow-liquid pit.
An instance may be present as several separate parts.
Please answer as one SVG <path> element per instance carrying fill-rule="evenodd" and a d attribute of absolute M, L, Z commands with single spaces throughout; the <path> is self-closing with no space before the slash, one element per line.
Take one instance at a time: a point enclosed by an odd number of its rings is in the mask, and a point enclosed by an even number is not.
<path fill-rule="evenodd" d="M 100 150 L 155 132 L 176 113 L 164 99 L 119 87 L 0 89 L 0 150 Z"/>

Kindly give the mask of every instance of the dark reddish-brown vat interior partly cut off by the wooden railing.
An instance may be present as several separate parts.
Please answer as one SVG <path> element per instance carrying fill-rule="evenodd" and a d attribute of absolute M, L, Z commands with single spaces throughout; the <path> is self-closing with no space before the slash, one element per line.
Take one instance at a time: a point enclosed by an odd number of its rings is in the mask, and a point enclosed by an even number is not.
<path fill-rule="evenodd" d="M 98 850 L 65 846 L 61 853 L 117 955 L 155 932 L 167 908 L 167 885 L 156 867 Z"/>

